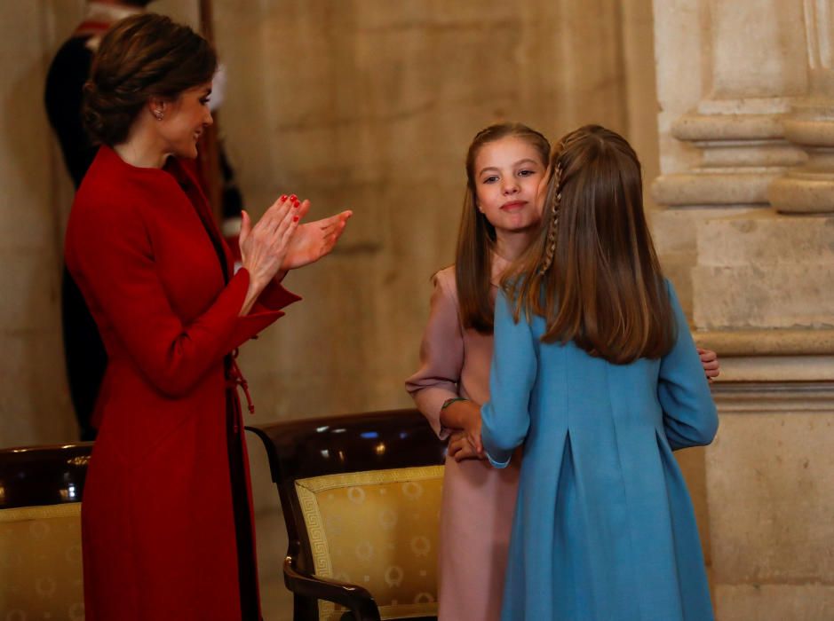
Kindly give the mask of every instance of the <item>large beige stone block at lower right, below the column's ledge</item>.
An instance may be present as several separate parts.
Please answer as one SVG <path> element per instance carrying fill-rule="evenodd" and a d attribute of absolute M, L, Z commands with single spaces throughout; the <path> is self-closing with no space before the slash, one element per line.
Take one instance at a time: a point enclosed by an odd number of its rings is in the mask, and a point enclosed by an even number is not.
<path fill-rule="evenodd" d="M 727 413 L 719 401 L 719 434 L 706 453 L 717 585 L 830 584 L 834 578 L 830 393 L 819 406 L 812 413 L 756 413 L 755 406 Z"/>

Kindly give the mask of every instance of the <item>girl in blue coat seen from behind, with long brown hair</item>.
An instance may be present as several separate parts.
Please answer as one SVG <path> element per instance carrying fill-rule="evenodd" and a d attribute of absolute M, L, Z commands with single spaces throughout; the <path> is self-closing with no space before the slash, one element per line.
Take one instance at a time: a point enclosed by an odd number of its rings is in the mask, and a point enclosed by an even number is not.
<path fill-rule="evenodd" d="M 502 619 L 712 619 L 671 452 L 709 444 L 718 417 L 624 138 L 563 138 L 543 218 L 496 300 L 481 412 L 493 465 L 524 445 Z"/>

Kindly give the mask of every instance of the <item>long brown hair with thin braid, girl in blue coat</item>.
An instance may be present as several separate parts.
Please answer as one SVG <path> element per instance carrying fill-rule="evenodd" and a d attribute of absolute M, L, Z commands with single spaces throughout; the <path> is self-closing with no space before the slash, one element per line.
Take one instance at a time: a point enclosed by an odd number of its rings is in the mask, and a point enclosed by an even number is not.
<path fill-rule="evenodd" d="M 659 358 L 675 339 L 663 272 L 643 213 L 640 164 L 616 132 L 562 138 L 539 237 L 503 280 L 515 320 L 544 317 L 543 342 L 576 342 L 615 364 Z"/>

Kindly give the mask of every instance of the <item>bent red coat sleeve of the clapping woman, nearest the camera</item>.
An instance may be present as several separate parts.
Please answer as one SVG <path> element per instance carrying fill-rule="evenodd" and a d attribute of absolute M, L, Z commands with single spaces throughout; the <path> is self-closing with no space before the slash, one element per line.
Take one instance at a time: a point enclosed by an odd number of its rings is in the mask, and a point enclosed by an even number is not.
<path fill-rule="evenodd" d="M 245 316 L 250 275 L 238 271 L 210 307 L 184 323 L 171 308 L 136 208 L 83 205 L 67 232 L 67 264 L 104 333 L 112 332 L 156 389 L 180 397 L 231 350 L 300 298 L 274 283 Z M 195 275 L 199 277 L 199 275 Z"/>

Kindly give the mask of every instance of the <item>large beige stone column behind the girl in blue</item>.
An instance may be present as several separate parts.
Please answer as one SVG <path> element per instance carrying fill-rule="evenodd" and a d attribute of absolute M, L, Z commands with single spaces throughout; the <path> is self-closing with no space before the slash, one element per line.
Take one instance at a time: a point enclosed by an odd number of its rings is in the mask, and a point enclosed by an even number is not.
<path fill-rule="evenodd" d="M 722 359 L 706 451 L 721 621 L 834 610 L 832 15 L 830 0 L 655 3 L 655 240 Z"/>

